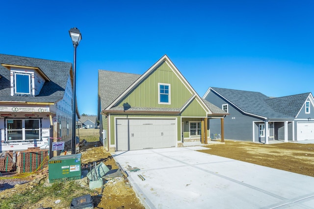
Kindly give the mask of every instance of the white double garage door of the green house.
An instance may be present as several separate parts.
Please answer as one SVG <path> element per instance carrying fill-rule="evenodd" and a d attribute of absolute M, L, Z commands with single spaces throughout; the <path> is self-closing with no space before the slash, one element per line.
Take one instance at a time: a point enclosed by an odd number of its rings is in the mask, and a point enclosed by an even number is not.
<path fill-rule="evenodd" d="M 176 146 L 175 119 L 116 119 L 117 150 Z"/>

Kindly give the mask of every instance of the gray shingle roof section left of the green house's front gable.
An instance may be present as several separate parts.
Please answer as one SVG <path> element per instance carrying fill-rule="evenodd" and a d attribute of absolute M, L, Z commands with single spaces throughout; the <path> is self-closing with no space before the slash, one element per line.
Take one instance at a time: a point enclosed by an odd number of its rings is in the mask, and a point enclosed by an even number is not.
<path fill-rule="evenodd" d="M 98 92 L 101 97 L 101 109 L 104 110 L 116 98 L 124 93 L 141 75 L 98 70 Z"/>

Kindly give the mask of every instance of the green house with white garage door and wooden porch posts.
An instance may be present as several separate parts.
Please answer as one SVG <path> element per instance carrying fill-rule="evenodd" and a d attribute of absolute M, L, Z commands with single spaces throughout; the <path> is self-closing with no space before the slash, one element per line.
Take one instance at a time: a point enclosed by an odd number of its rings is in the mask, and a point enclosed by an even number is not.
<path fill-rule="evenodd" d="M 99 70 L 98 96 L 101 141 L 110 151 L 207 143 L 208 120 L 228 115 L 203 100 L 167 55 L 142 75 Z"/>

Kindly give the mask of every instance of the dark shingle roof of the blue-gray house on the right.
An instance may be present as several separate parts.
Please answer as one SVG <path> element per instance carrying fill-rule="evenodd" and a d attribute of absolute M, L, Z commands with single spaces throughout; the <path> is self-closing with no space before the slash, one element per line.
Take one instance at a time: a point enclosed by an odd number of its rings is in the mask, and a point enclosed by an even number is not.
<path fill-rule="evenodd" d="M 211 87 L 246 113 L 268 118 L 294 118 L 309 93 L 270 98 L 259 92 Z M 290 110 L 289 110 L 290 109 Z"/>

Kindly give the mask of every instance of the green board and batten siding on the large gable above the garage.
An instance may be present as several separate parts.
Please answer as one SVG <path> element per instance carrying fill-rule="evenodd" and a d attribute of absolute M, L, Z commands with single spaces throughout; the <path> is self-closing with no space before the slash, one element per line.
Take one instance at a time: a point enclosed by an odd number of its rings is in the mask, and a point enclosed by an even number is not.
<path fill-rule="evenodd" d="M 171 104 L 158 104 L 158 83 L 170 84 Z M 162 62 L 118 106 L 128 103 L 131 107 L 181 108 L 191 96 L 178 75 Z"/>

